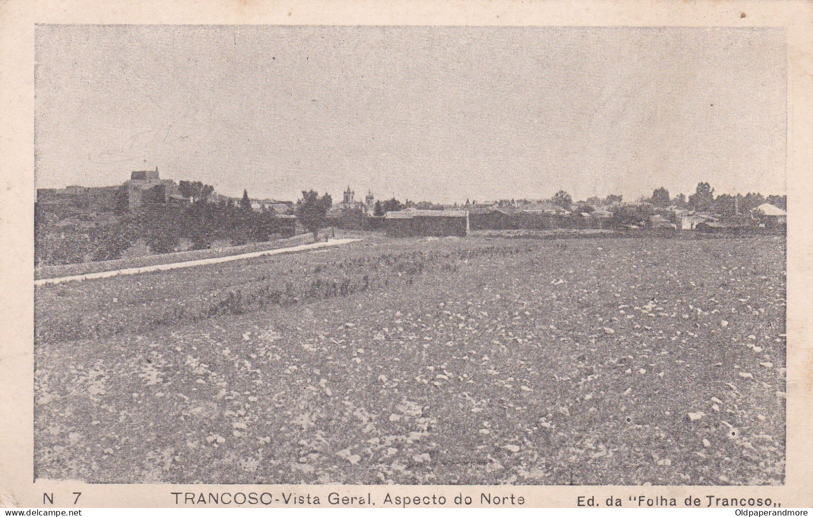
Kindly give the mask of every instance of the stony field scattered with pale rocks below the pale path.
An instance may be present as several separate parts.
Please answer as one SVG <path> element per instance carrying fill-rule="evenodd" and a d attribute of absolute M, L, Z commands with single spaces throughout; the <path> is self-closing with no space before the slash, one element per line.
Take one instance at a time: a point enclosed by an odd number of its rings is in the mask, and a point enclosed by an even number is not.
<path fill-rule="evenodd" d="M 367 240 L 37 288 L 35 467 L 781 484 L 785 240 Z"/>

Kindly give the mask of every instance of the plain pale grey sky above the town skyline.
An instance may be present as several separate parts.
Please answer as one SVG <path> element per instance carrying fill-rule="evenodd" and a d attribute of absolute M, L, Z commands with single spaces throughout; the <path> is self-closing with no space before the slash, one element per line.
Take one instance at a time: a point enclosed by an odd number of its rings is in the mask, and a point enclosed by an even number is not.
<path fill-rule="evenodd" d="M 441 202 L 785 193 L 772 28 L 37 28 L 38 187 Z"/>

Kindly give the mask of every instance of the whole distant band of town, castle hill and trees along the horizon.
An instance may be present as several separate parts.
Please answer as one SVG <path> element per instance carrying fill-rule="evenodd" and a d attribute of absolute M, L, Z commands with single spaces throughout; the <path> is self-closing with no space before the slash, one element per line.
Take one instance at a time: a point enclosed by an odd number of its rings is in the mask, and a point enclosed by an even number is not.
<path fill-rule="evenodd" d="M 785 195 L 715 195 L 701 182 L 689 196 L 654 189 L 648 198 L 621 195 L 574 201 L 563 190 L 551 198 L 439 204 L 356 198 L 347 185 L 341 202 L 330 193 L 303 191 L 292 200 L 216 193 L 201 181 L 161 179 L 133 171 L 121 185 L 37 189 L 35 260 L 82 263 L 174 251 L 226 248 L 320 228 L 386 232 L 393 237 L 464 237 L 480 230 L 601 229 L 616 231 L 784 232 Z"/>

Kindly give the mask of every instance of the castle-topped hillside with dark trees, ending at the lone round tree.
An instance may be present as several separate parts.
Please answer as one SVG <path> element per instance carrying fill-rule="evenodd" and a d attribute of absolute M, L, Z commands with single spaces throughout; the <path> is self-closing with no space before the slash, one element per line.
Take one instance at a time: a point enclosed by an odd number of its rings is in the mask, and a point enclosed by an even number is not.
<path fill-rule="evenodd" d="M 83 263 L 225 248 L 302 232 L 294 203 L 215 193 L 200 181 L 133 171 L 110 187 L 37 189 L 35 263 Z"/>

